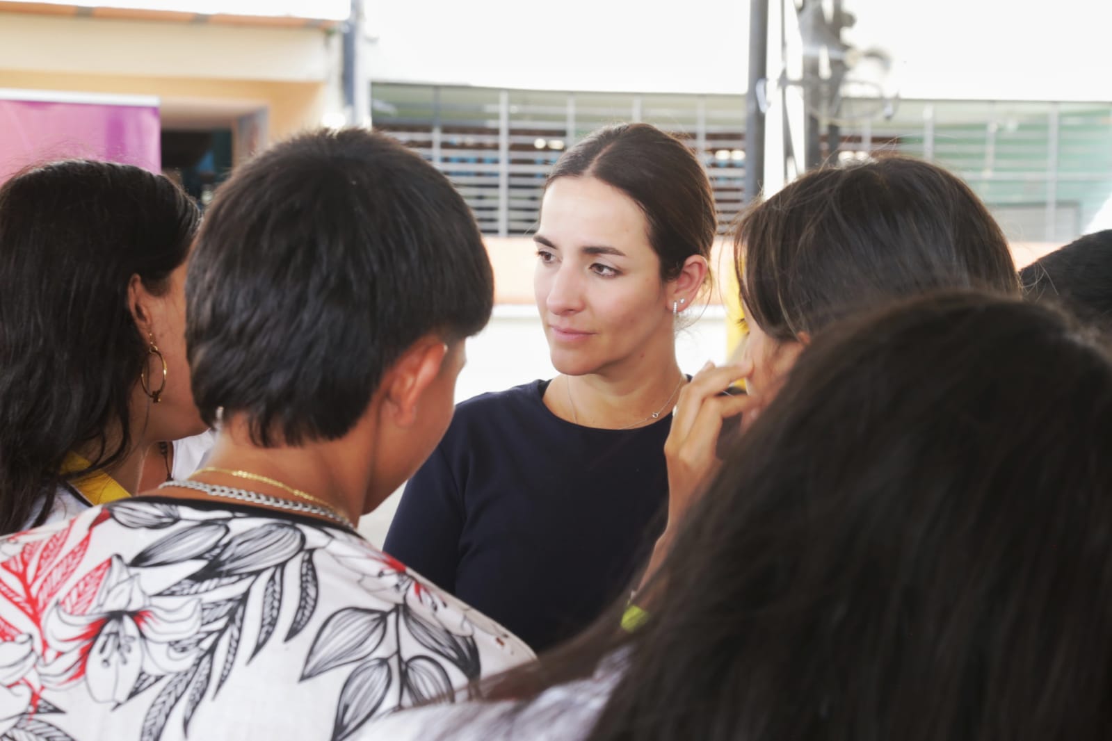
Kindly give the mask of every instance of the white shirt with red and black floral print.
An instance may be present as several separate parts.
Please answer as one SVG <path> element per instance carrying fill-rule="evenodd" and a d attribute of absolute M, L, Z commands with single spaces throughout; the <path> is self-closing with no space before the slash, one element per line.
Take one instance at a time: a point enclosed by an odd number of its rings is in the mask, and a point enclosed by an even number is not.
<path fill-rule="evenodd" d="M 0 540 L 0 739 L 329 739 L 533 658 L 350 530 L 141 498 Z"/>

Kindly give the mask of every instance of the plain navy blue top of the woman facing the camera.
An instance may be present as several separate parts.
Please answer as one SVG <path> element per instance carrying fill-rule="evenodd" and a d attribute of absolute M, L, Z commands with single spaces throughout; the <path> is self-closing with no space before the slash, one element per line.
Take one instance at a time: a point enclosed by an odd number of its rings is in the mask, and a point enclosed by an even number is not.
<path fill-rule="evenodd" d="M 635 430 L 556 417 L 548 381 L 460 403 L 410 479 L 384 550 L 536 651 L 575 635 L 664 527 L 672 415 Z"/>

